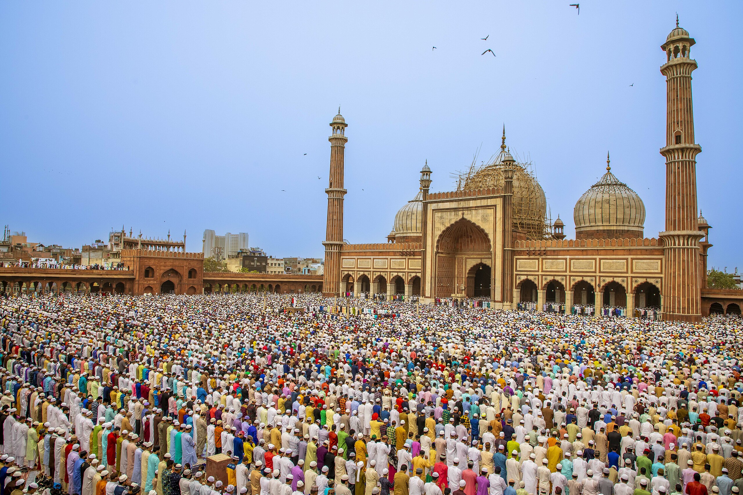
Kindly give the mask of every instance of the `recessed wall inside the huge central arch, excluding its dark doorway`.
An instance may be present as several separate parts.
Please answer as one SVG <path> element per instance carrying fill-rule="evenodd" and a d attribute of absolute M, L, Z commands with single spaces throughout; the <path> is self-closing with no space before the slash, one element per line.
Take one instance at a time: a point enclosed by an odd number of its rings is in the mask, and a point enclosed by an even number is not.
<path fill-rule="evenodd" d="M 436 240 L 436 295 L 441 298 L 466 295 L 465 258 L 477 256 L 490 260 L 492 249 L 487 233 L 464 216 L 444 229 Z"/>

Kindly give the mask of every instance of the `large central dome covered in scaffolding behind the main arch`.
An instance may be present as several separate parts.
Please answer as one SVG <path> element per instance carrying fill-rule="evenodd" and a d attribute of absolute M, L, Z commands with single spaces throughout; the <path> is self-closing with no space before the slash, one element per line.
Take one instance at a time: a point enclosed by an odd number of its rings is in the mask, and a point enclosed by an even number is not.
<path fill-rule="evenodd" d="M 487 188 L 503 190 L 503 158 L 507 153 L 504 145 L 487 163 L 481 161 L 478 165 L 479 152 L 478 149 L 466 171 L 452 174 L 457 191 Z M 520 160 L 515 152 L 512 155 L 516 160 L 513 165 L 513 232 L 526 240 L 549 239 L 553 235 L 553 227 L 545 191 L 536 180 L 531 161 Z"/>

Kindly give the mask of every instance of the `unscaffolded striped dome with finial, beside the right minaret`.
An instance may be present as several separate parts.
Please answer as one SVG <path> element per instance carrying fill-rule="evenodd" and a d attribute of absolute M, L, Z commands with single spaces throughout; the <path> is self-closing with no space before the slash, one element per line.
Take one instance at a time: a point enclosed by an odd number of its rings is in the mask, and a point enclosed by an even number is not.
<path fill-rule="evenodd" d="M 643 237 L 645 205 L 640 196 L 611 173 L 585 191 L 573 210 L 577 239 Z"/>

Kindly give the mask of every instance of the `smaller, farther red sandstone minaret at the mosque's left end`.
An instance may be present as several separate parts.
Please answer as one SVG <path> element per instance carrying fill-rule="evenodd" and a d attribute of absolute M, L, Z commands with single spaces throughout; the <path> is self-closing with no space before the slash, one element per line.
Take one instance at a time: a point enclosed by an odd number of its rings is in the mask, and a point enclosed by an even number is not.
<path fill-rule="evenodd" d="M 328 178 L 328 224 L 325 227 L 325 276 L 322 279 L 322 293 L 326 296 L 340 295 L 340 246 L 343 246 L 343 160 L 345 154 L 345 123 L 343 115 L 338 114 L 330 123 L 333 134 L 330 141 L 330 177 Z"/>

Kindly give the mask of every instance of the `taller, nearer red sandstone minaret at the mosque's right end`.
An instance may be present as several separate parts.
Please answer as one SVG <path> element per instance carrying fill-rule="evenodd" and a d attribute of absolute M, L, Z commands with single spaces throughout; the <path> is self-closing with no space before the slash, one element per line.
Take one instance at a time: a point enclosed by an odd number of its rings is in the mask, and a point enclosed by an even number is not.
<path fill-rule="evenodd" d="M 694 142 L 692 113 L 692 71 L 694 45 L 687 30 L 676 27 L 661 45 L 666 63 L 666 232 L 663 239 L 663 318 L 678 321 L 701 320 L 701 273 L 699 240 L 704 237 L 697 225 L 696 156 L 701 146 Z"/>

